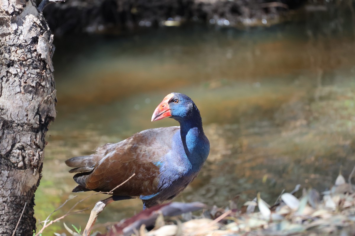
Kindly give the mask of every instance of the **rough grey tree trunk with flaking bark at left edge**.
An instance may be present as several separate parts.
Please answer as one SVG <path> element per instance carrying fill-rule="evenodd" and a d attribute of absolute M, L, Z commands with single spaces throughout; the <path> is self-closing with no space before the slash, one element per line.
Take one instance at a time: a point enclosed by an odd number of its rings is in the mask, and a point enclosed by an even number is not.
<path fill-rule="evenodd" d="M 32 0 L 0 0 L 0 235 L 32 236 L 45 134 L 55 118 L 53 35 Z"/>

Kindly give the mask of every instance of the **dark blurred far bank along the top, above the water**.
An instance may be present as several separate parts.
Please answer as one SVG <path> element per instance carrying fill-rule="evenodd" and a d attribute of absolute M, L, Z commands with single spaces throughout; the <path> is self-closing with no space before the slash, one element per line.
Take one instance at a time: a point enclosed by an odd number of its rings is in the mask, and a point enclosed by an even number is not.
<path fill-rule="evenodd" d="M 62 35 L 74 32 L 136 30 L 142 21 L 151 22 L 153 27 L 157 27 L 168 18 L 200 23 L 224 18 L 231 25 L 243 25 L 244 19 L 287 17 L 291 11 L 302 7 L 306 2 L 306 0 L 69 0 L 51 4 L 43 13 L 53 32 Z M 329 3 L 311 1 L 311 4 Z"/>

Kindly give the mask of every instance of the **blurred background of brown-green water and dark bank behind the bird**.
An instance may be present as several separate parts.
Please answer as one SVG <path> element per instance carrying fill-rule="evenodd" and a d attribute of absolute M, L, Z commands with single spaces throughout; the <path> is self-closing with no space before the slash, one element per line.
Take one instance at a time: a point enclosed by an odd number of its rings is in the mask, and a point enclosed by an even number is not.
<path fill-rule="evenodd" d="M 76 186 L 64 161 L 143 129 L 170 92 L 201 111 L 211 143 L 198 178 L 175 201 L 225 207 L 296 184 L 324 191 L 355 164 L 354 2 L 68 0 L 44 15 L 54 33 L 58 104 L 35 194 L 41 221 Z M 51 218 L 65 214 L 77 197 Z M 92 208 L 95 195 L 75 209 Z M 239 206 L 240 206 L 239 205 Z M 141 211 L 110 204 L 97 225 Z M 62 220 L 84 228 L 90 210 Z M 103 229 L 103 227 L 99 228 Z M 45 235 L 64 232 L 62 223 Z"/>

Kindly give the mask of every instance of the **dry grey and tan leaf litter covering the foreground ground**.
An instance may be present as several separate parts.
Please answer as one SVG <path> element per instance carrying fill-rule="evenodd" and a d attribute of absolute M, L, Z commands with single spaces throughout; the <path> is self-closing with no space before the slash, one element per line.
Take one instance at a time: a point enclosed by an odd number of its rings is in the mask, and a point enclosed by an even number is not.
<path fill-rule="evenodd" d="M 273 206 L 263 201 L 260 193 L 240 209 L 234 203 L 230 203 L 231 209 L 207 207 L 200 202 L 166 203 L 111 225 L 105 234 L 92 235 L 354 235 L 355 186 L 346 183 L 341 173 L 329 191 L 320 194 L 312 188 L 302 189 L 301 197 L 297 198 L 294 194 L 300 189 L 297 185 L 289 193 L 282 192 Z M 200 215 L 190 213 L 201 209 Z"/>

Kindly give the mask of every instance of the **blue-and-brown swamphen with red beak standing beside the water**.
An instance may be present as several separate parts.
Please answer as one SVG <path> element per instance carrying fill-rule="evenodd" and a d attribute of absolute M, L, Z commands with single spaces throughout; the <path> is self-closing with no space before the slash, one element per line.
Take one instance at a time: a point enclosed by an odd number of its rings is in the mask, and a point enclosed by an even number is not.
<path fill-rule="evenodd" d="M 76 173 L 72 191 L 109 192 L 91 211 L 84 230 L 89 235 L 103 208 L 113 201 L 140 198 L 143 210 L 171 200 L 200 172 L 209 154 L 200 111 L 182 93 L 169 93 L 151 121 L 170 117 L 180 126 L 147 129 L 119 143 L 108 143 L 89 156 L 65 161 Z M 118 187 L 117 187 L 118 186 Z"/>

